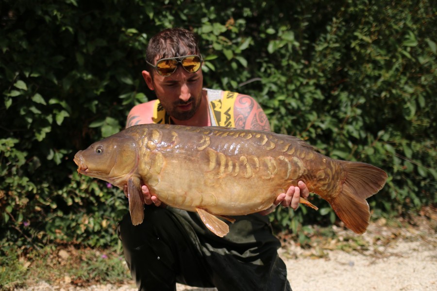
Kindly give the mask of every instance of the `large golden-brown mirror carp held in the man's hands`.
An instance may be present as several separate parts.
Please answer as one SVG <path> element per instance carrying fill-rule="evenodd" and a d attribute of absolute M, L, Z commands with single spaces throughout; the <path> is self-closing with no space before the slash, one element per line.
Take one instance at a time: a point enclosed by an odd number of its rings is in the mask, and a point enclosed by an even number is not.
<path fill-rule="evenodd" d="M 127 186 L 134 225 L 144 219 L 143 183 L 163 203 L 198 212 L 221 237 L 229 226 L 218 217 L 266 210 L 300 180 L 362 234 L 366 198 L 387 180 L 375 166 L 331 159 L 294 136 L 222 127 L 136 125 L 79 151 L 74 162 L 80 174 Z"/>

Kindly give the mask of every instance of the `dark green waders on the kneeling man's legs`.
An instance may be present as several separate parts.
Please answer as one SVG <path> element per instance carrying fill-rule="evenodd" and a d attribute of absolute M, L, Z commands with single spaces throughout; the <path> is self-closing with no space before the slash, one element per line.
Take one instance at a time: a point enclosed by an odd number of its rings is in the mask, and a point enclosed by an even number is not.
<path fill-rule="evenodd" d="M 268 218 L 235 219 L 219 238 L 194 212 L 146 206 L 138 226 L 126 214 L 118 237 L 138 290 L 175 291 L 178 282 L 218 291 L 291 291 Z"/>

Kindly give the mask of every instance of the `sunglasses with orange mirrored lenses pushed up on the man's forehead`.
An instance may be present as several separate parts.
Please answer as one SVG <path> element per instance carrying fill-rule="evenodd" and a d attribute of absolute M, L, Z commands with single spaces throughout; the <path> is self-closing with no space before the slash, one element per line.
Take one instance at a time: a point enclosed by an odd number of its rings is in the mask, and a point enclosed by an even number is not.
<path fill-rule="evenodd" d="M 173 74 L 178 68 L 179 63 L 188 73 L 196 73 L 199 71 L 202 62 L 202 57 L 198 55 L 160 59 L 156 65 L 152 65 L 146 61 L 147 64 L 154 67 L 156 71 L 158 71 L 158 74 L 163 77 L 168 77 Z"/>

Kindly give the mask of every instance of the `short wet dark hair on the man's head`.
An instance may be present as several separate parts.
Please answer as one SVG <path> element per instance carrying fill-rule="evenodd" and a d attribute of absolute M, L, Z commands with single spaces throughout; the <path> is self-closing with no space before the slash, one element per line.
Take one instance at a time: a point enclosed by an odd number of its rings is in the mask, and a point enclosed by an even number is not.
<path fill-rule="evenodd" d="M 155 65 L 155 59 L 173 58 L 186 55 L 200 55 L 197 36 L 182 28 L 168 28 L 158 32 L 149 41 L 146 61 Z M 147 65 L 153 75 L 153 67 Z"/>

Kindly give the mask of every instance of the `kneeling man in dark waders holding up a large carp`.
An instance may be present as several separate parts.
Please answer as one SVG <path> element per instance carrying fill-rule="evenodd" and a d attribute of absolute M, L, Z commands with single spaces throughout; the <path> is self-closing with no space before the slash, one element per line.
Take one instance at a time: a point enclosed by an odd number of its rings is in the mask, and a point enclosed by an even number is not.
<path fill-rule="evenodd" d="M 142 75 L 158 99 L 135 106 L 127 127 L 170 123 L 270 130 L 252 97 L 202 87 L 202 56 L 193 33 L 159 32 L 150 40 L 146 60 Z M 277 254 L 280 242 L 265 215 L 279 204 L 297 209 L 301 194 L 309 194 L 302 181 L 298 185 L 280 194 L 271 209 L 235 217 L 223 238 L 210 232 L 196 213 L 165 206 L 143 185 L 144 222 L 133 226 L 127 214 L 118 224 L 138 290 L 174 291 L 176 282 L 219 291 L 291 290 Z"/>

